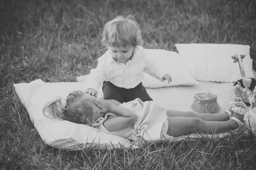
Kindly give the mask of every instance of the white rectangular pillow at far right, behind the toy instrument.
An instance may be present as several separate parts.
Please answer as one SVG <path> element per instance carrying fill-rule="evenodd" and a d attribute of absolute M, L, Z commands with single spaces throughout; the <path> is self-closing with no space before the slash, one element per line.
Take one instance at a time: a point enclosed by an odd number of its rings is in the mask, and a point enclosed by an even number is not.
<path fill-rule="evenodd" d="M 199 81 L 236 82 L 241 79 L 239 64 L 231 56 L 236 52 L 243 59 L 246 77 L 253 77 L 250 46 L 238 44 L 175 44 L 192 76 Z"/>

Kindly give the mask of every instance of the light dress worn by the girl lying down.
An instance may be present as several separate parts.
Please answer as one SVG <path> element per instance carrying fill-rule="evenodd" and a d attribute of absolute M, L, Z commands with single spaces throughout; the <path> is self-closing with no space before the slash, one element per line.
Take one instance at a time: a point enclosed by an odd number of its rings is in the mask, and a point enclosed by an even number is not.
<path fill-rule="evenodd" d="M 119 106 L 127 108 L 138 115 L 137 122 L 135 122 L 134 125 L 123 130 L 109 132 L 102 123 L 108 119 L 108 116 L 112 115 L 115 117 L 118 115 L 107 113 L 104 118 L 99 118 L 92 127 L 96 130 L 121 136 L 134 142 L 141 137 L 148 142 L 168 139 L 170 137 L 166 134 L 169 124 L 166 116 L 166 109 L 162 106 L 157 105 L 153 101 L 143 102 L 139 98 Z"/>

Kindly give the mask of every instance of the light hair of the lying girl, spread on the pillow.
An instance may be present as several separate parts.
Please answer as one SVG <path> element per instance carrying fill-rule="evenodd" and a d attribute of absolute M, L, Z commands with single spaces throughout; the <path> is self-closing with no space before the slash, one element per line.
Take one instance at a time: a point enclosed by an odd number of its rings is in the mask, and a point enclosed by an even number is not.
<path fill-rule="evenodd" d="M 53 118 L 60 118 L 79 124 L 91 124 L 93 110 L 90 106 L 84 105 L 82 91 L 71 92 L 66 99 L 67 106 L 61 105 L 61 97 L 58 97 L 56 101 L 49 102 L 44 106 L 43 113 L 47 116 L 49 112 Z M 47 116 L 49 117 L 49 116 Z"/>

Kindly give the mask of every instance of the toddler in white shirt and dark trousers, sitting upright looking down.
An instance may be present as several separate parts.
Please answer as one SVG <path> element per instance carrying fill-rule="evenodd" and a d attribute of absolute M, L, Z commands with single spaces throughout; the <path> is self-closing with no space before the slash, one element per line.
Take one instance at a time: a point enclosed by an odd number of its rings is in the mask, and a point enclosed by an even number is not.
<path fill-rule="evenodd" d="M 152 100 L 142 85 L 143 72 L 162 82 L 172 77 L 145 55 L 139 24 L 132 15 L 117 16 L 105 23 L 102 44 L 108 51 L 98 59 L 96 68 L 90 71 L 86 92 L 97 98 L 102 85 L 104 99 L 129 102 L 140 98 L 143 102 Z M 157 56 L 156 56 L 157 57 Z"/>

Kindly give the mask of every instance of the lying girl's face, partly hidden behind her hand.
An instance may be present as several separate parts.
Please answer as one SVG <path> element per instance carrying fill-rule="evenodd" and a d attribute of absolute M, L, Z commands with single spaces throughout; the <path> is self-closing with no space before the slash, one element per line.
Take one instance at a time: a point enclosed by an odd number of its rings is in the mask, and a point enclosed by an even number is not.
<path fill-rule="evenodd" d="M 93 108 L 93 115 L 92 118 L 94 121 L 96 121 L 97 119 L 99 119 L 100 117 L 104 117 L 106 113 L 98 113 L 98 111 L 100 111 L 101 109 L 93 102 L 93 96 L 91 96 L 90 94 L 84 93 L 83 97 L 84 100 L 84 104 L 90 106 L 91 108 Z"/>

